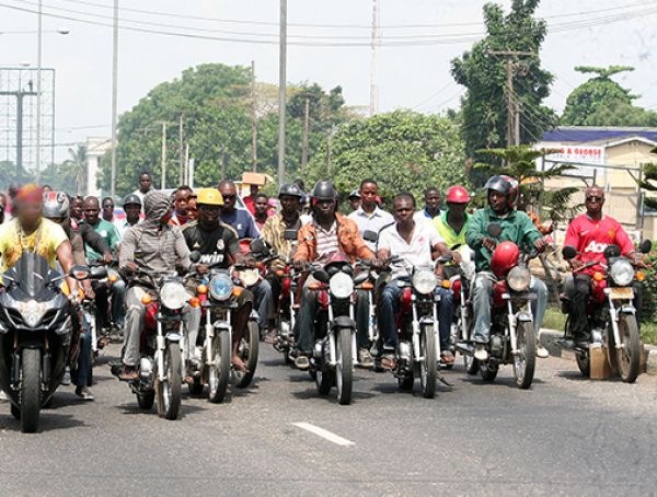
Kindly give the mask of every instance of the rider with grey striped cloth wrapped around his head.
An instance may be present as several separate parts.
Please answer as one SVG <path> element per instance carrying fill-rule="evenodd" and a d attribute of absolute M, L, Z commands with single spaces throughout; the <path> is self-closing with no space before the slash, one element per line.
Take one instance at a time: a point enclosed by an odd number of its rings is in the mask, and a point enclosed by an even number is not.
<path fill-rule="evenodd" d="M 119 269 L 126 273 L 143 271 L 158 279 L 171 275 L 176 266 L 189 269 L 189 250 L 180 228 L 169 226 L 171 203 L 169 195 L 152 190 L 143 197 L 146 219 L 126 232 L 120 252 Z M 135 278 L 126 293 L 126 326 L 124 334 L 122 380 L 139 378 L 139 340 L 146 316 L 141 298 L 151 289 L 150 280 Z"/>

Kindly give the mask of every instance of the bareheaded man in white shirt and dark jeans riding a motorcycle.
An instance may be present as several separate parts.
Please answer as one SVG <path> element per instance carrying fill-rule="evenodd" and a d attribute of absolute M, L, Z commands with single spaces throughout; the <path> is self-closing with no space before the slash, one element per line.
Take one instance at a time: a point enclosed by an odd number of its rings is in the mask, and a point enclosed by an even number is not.
<path fill-rule="evenodd" d="M 442 238 L 433 227 L 413 219 L 415 197 L 412 194 L 396 195 L 392 201 L 392 208 L 396 222 L 381 230 L 377 254 L 380 261 L 391 256 L 400 258 L 400 264 L 392 266 L 391 280 L 381 293 L 379 305 L 379 327 L 383 338 L 381 366 L 385 369 L 395 368 L 397 348 L 395 314 L 402 294 L 402 287 L 397 285 L 397 280 L 411 276 L 406 264 L 412 266 L 433 265 L 433 261 L 439 255 L 449 253 Z M 454 356 L 449 349 L 449 332 L 453 316 L 452 293 L 441 287 L 436 288 L 435 293 L 440 296 L 438 324 L 441 360 L 451 365 L 454 362 Z"/>

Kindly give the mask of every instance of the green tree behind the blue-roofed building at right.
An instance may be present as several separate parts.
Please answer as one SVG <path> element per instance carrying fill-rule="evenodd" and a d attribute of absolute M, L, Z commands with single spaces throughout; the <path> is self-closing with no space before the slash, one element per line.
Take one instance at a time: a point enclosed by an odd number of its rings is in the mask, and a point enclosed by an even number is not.
<path fill-rule="evenodd" d="M 611 79 L 633 71 L 629 66 L 608 68 L 580 66 L 581 73 L 596 77 L 577 86 L 568 95 L 561 123 L 566 126 L 657 126 L 657 113 L 633 104 L 637 95 Z"/>

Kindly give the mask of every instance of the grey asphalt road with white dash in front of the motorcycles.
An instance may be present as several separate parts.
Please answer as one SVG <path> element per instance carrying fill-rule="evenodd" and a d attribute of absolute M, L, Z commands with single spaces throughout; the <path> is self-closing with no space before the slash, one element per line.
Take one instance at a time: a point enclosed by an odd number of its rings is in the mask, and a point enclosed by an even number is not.
<path fill-rule="evenodd" d="M 425 400 L 418 385 L 402 393 L 391 374 L 358 370 L 355 401 L 341 406 L 263 348 L 250 390 L 222 405 L 185 393 L 176 421 L 140 412 L 106 365 L 96 402 L 62 388 L 36 435 L 0 404 L 2 495 L 657 493 L 655 377 L 592 382 L 550 358 L 520 391 L 510 367 L 494 384 L 457 367 L 452 386 Z"/>

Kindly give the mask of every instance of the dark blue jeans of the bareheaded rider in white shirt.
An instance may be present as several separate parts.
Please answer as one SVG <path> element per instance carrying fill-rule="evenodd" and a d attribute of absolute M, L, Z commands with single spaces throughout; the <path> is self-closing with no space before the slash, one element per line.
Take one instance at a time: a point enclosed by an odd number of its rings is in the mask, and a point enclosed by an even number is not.
<path fill-rule="evenodd" d="M 385 285 L 379 303 L 379 330 L 383 339 L 383 348 L 396 350 L 399 344 L 396 330 L 396 313 L 400 310 L 400 297 L 404 289 L 393 280 Z M 450 346 L 450 328 L 454 313 L 451 290 L 436 288 L 434 294 L 440 296 L 438 303 L 438 330 L 440 333 L 440 350 L 447 350 Z"/>

